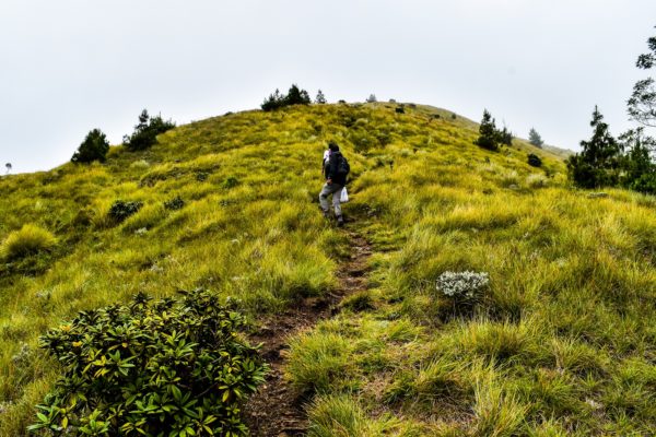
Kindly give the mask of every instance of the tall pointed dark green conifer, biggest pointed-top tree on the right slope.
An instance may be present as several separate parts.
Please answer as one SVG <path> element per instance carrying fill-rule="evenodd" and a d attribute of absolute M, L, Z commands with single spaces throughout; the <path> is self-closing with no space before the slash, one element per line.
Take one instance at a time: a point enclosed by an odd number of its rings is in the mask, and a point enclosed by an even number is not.
<path fill-rule="evenodd" d="M 570 177 L 578 187 L 597 188 L 618 184 L 622 147 L 602 120 L 604 116 L 595 106 L 590 141 L 582 141 L 582 152 L 567 160 Z"/>

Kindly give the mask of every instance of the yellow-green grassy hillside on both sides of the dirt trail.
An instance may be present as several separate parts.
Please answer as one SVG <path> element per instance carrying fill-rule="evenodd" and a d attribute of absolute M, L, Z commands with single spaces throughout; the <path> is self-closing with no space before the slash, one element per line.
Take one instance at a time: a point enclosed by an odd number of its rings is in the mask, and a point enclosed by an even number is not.
<path fill-rule="evenodd" d="M 206 287 L 257 329 L 331 292 L 349 240 L 317 206 L 329 139 L 375 253 L 368 288 L 291 339 L 311 435 L 654 434 L 656 200 L 571 190 L 549 151 L 488 152 L 469 120 L 395 107 L 226 115 L 104 165 L 2 178 L 0 435 L 24 433 L 57 377 L 38 335 L 78 310 Z M 116 200 L 143 206 L 117 224 Z M 435 281 L 466 270 L 490 285 L 461 311 Z"/>

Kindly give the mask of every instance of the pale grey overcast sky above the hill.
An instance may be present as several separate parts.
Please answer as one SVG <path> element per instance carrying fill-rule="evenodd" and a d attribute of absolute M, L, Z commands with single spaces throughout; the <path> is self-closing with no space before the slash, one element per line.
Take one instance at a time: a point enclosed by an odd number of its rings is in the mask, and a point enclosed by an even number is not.
<path fill-rule="evenodd" d="M 577 150 L 611 132 L 656 35 L 655 0 L 0 0 L 0 168 L 49 169 L 142 108 L 178 123 L 297 83 L 444 107 Z"/>

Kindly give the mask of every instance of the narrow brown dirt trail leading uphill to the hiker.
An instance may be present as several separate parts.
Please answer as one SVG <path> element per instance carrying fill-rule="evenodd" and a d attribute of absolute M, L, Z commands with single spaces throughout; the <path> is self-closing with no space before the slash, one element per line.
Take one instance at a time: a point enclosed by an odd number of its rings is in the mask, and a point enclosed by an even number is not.
<path fill-rule="evenodd" d="M 314 327 L 320 319 L 339 311 L 345 296 L 366 287 L 367 260 L 371 245 L 347 225 L 344 232 L 351 240 L 350 259 L 338 268 L 337 291 L 323 297 L 305 298 L 285 312 L 267 319 L 259 332 L 250 336 L 253 343 L 262 343 L 261 354 L 271 366 L 267 381 L 260 386 L 245 409 L 246 424 L 254 437 L 304 436 L 307 421 L 304 400 L 297 399 L 284 380 L 284 351 L 288 339 Z"/>

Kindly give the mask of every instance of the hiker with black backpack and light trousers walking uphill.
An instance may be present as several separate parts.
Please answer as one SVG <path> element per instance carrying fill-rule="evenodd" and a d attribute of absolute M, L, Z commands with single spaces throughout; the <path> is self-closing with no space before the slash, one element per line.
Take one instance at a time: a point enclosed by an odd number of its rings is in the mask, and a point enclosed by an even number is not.
<path fill-rule="evenodd" d="M 319 203 L 324 211 L 326 218 L 330 217 L 330 205 L 328 203 L 328 196 L 332 194 L 332 205 L 335 206 L 335 216 L 337 217 L 337 224 L 342 226 L 344 224 L 344 217 L 341 212 L 340 197 L 341 191 L 347 185 L 347 175 L 349 174 L 350 167 L 349 162 L 339 151 L 339 145 L 335 142 L 328 143 L 328 158 L 324 155 L 324 176 L 326 177 L 326 184 L 319 193 Z"/>

